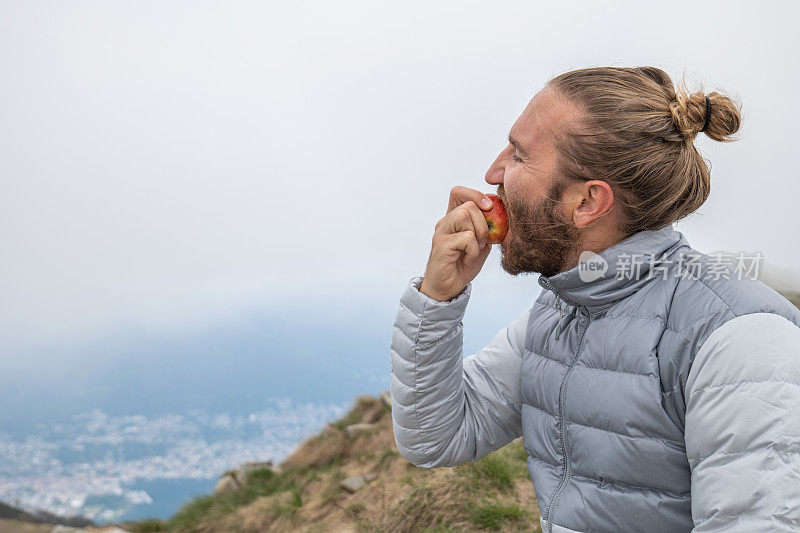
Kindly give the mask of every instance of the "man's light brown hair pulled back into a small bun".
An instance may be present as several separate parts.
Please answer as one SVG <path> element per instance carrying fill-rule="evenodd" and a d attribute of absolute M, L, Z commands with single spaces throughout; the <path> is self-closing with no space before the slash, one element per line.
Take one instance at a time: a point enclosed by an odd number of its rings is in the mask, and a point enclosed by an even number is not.
<path fill-rule="evenodd" d="M 704 133 L 715 141 L 735 141 L 731 135 L 741 123 L 741 105 L 712 92 L 706 124 L 705 92 L 689 94 L 683 83 L 676 91 L 656 67 L 573 70 L 547 87 L 574 104 L 580 117 L 556 142 L 557 175 L 608 182 L 625 237 L 698 209 L 711 182 L 694 139 L 706 125 Z"/>

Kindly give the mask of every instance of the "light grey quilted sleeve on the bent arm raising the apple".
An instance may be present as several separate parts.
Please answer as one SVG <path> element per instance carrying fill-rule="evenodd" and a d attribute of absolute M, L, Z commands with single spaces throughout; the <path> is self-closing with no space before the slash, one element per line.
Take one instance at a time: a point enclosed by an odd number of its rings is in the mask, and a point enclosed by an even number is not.
<path fill-rule="evenodd" d="M 455 466 L 522 435 L 520 374 L 528 314 L 463 357 L 472 285 L 440 302 L 407 285 L 392 333 L 392 422 L 400 454 L 422 468 Z"/>

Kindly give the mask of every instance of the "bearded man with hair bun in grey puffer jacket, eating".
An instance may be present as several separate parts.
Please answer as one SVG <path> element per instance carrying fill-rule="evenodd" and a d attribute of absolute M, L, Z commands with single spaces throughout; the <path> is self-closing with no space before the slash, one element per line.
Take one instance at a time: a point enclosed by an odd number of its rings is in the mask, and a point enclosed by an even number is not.
<path fill-rule="evenodd" d="M 454 466 L 522 436 L 544 531 L 800 530 L 800 312 L 672 225 L 710 192 L 694 138 L 739 123 L 653 67 L 548 82 L 486 173 L 501 264 L 544 290 L 462 359 L 490 204 L 455 187 L 395 321 L 403 457 Z"/>

